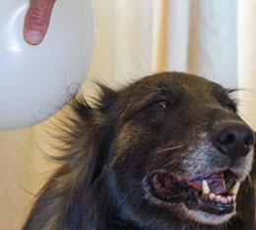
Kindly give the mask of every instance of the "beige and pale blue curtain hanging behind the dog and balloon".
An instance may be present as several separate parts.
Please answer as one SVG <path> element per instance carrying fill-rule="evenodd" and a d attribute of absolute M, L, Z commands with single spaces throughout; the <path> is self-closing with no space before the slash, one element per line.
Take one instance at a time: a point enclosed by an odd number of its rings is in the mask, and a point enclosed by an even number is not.
<path fill-rule="evenodd" d="M 94 0 L 94 6 L 96 54 L 83 86 L 89 99 L 94 81 L 116 86 L 186 71 L 247 88 L 238 94 L 240 113 L 256 130 L 254 0 Z M 21 228 L 32 194 L 54 167 L 38 150 L 42 126 L 0 133 L 0 229 Z"/>

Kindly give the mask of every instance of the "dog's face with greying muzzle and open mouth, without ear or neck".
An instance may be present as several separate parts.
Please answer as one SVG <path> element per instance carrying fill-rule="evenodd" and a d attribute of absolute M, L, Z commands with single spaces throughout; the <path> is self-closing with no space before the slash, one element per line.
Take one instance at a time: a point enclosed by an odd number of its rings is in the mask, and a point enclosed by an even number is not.
<path fill-rule="evenodd" d="M 121 90 L 111 174 L 123 216 L 149 224 L 221 224 L 235 214 L 253 161 L 254 134 L 230 91 L 164 73 Z"/>

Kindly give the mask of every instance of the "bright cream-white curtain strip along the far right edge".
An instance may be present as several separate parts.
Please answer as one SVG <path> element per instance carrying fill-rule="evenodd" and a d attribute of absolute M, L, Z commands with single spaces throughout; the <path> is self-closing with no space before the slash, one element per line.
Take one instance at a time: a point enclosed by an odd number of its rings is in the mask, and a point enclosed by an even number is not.
<path fill-rule="evenodd" d="M 256 1 L 238 2 L 238 99 L 240 113 L 256 131 Z"/>

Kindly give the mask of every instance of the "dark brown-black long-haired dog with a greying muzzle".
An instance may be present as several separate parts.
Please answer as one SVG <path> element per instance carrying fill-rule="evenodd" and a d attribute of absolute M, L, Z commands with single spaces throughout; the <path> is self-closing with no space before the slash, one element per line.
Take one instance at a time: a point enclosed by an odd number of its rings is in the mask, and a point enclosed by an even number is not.
<path fill-rule="evenodd" d="M 170 72 L 76 96 L 23 229 L 255 229 L 255 134 L 233 91 Z"/>

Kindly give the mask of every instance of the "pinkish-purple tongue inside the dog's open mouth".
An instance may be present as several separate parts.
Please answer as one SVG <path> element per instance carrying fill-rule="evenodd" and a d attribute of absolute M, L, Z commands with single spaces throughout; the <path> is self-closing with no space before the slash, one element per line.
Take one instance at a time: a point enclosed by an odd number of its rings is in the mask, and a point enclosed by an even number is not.
<path fill-rule="evenodd" d="M 202 181 L 206 180 L 211 193 L 220 195 L 224 194 L 224 178 L 220 174 L 205 174 L 200 177 L 190 177 L 188 184 L 195 189 L 202 191 Z"/>

